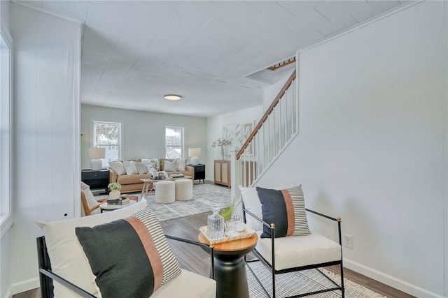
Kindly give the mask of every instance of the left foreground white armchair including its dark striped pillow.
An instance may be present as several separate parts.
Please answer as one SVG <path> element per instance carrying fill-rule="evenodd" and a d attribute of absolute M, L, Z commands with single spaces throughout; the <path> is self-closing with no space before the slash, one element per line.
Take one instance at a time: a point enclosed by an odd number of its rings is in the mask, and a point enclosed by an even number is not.
<path fill-rule="evenodd" d="M 152 292 L 151 297 L 156 298 L 214 298 L 216 282 L 213 279 L 186 271 L 178 265 L 174 268 L 175 274 L 174 271 L 169 272 L 172 267 L 175 267 L 177 260 L 172 255 L 165 237 L 183 241 L 186 244 L 203 246 L 206 249 L 209 249 L 209 246 L 178 237 L 168 235 L 164 237 L 155 215 L 146 207 L 146 200 L 141 200 L 137 204 L 113 212 L 52 223 L 37 222 L 44 234 L 37 238 L 41 297 L 97 297 L 99 292 L 103 293 L 104 289 L 109 290 L 109 294 L 106 296 L 103 294 L 102 297 L 113 297 L 113 295 L 123 297 L 116 292 L 110 295 L 111 289 L 102 288 L 103 285 L 99 283 L 102 279 L 109 282 L 109 286 L 117 286 L 120 290 L 127 287 L 130 289 L 127 293 L 132 292 L 133 287 L 138 289 L 143 287 L 146 290 L 146 284 L 153 283 L 154 288 L 149 290 Z M 132 227 L 139 229 L 132 230 Z M 104 232 L 106 236 L 95 234 L 98 232 Z M 127 239 L 134 239 L 134 241 Z M 114 247 L 116 242 L 120 244 Z M 105 246 L 104 243 L 108 245 Z M 97 258 L 89 254 L 92 251 Z M 118 259 L 121 259 L 119 265 L 113 263 Z M 149 274 L 138 269 L 141 267 L 132 266 L 132 264 L 140 263 L 144 264 L 145 270 L 150 268 Z M 95 264 L 106 269 L 100 270 L 101 273 L 98 274 Z M 163 270 L 159 265 L 163 266 Z M 105 275 L 104 272 L 109 275 Z M 124 279 L 129 277 L 130 282 L 120 279 L 123 283 L 111 284 L 109 276 L 115 278 L 125 276 Z"/>

